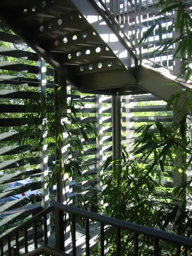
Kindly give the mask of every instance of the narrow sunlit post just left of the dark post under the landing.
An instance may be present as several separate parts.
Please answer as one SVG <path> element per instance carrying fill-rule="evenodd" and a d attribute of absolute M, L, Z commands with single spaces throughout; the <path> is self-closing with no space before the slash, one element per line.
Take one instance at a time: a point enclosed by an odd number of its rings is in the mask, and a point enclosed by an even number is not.
<path fill-rule="evenodd" d="M 97 148 L 97 154 L 96 154 L 96 158 L 97 158 L 97 172 L 99 172 L 99 170 L 101 169 L 102 166 L 102 159 L 103 159 L 103 141 L 102 141 L 102 98 L 100 94 L 96 94 L 96 103 L 95 103 L 95 108 L 96 108 L 96 121 L 98 123 L 97 126 L 97 132 L 98 132 L 98 143 L 96 145 Z M 102 183 L 100 182 L 97 186 L 98 189 L 102 190 Z"/>

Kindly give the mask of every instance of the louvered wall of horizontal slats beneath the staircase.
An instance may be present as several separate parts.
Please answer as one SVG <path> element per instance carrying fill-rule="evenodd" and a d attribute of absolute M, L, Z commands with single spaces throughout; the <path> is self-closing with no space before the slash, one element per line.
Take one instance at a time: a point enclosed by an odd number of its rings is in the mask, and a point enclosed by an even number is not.
<path fill-rule="evenodd" d="M 42 76 L 40 72 L 42 70 L 42 62 L 38 62 L 38 60 L 40 60 L 38 55 L 1 22 L 0 234 L 7 232 L 31 215 L 41 211 L 45 205 L 42 196 L 47 194 L 49 198 L 56 197 L 56 190 L 52 188 L 52 190 L 41 193 L 41 196 L 32 196 L 27 199 L 10 198 L 22 192 L 41 189 L 41 183 L 38 182 L 37 178 L 42 178 L 45 175 L 44 170 L 39 168 L 41 160 L 38 151 L 31 150 L 30 146 L 19 147 L 11 142 L 12 135 L 17 132 L 17 128 L 21 125 L 25 110 L 23 104 L 31 95 L 38 93 L 40 86 L 38 75 Z M 45 64 L 45 66 L 46 91 L 52 91 L 54 70 L 48 64 Z M 9 79 L 12 79 L 12 81 Z M 21 80 L 24 82 L 20 82 Z M 90 138 L 88 145 L 85 145 L 86 158 L 93 162 L 90 168 L 91 174 L 94 177 L 94 185 L 93 182 L 73 183 L 70 186 L 71 194 L 69 196 L 74 196 L 75 193 L 78 193 L 79 189 L 86 189 L 90 185 L 97 188 L 98 159 L 105 161 L 108 155 L 112 154 L 112 99 L 106 95 L 81 94 L 70 84 L 67 84 L 67 93 L 68 98 L 76 102 L 84 102 L 84 116 L 86 120 L 96 120 L 102 124 L 100 131 L 102 143 L 100 143 L 100 146 L 96 144 L 95 138 Z M 155 106 L 156 104 L 158 106 Z M 151 120 L 172 121 L 172 113 L 165 114 L 163 112 L 164 106 L 161 106 L 162 104 L 153 95 L 131 96 L 131 99 L 128 96 L 122 97 L 122 140 L 124 145 L 127 146 L 127 150 L 131 147 L 131 143 L 136 140 L 137 134 L 134 131 L 138 124 L 150 122 Z M 146 106 L 143 107 L 143 105 Z M 76 119 L 77 122 L 80 120 L 82 120 L 82 117 Z M 74 152 L 73 154 L 77 153 Z M 48 172 L 51 172 L 54 168 L 54 159 L 54 155 L 48 158 Z M 12 187 L 14 182 L 25 180 L 26 178 L 35 179 L 34 182 L 27 184 L 24 188 Z M 166 184 L 170 185 L 171 181 L 167 181 L 168 183 Z M 47 200 L 46 206 L 49 203 L 49 200 Z M 31 239 L 33 240 L 33 237 Z"/>

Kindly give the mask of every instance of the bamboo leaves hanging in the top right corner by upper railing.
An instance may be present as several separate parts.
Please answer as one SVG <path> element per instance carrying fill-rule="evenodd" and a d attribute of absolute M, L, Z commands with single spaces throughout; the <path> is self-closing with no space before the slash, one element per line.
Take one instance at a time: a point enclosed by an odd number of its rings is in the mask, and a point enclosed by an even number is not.
<path fill-rule="evenodd" d="M 162 8 L 162 4 L 165 3 L 165 7 Z M 155 7 L 160 8 L 161 10 L 157 15 L 166 15 L 166 12 L 176 14 L 176 19 L 172 23 L 168 29 L 163 32 L 162 30 L 162 21 L 160 20 L 158 24 L 152 25 L 143 35 L 139 44 L 144 43 L 149 35 L 153 32 L 155 27 L 158 26 L 158 35 L 159 35 L 159 43 L 160 46 L 155 52 L 160 51 L 160 54 L 166 53 L 169 48 L 174 47 L 176 45 L 176 50 L 173 55 L 173 59 L 182 58 L 184 60 L 184 64 L 180 69 L 180 75 L 185 75 L 185 83 L 189 80 L 192 74 L 192 69 L 190 67 L 190 63 L 192 60 L 192 10 L 191 5 L 185 3 L 181 0 L 176 1 L 173 4 L 169 5 L 169 0 L 159 0 L 158 4 Z M 174 31 L 178 31 L 179 35 L 176 38 L 167 39 L 166 41 L 162 41 L 163 34 L 169 35 Z"/>

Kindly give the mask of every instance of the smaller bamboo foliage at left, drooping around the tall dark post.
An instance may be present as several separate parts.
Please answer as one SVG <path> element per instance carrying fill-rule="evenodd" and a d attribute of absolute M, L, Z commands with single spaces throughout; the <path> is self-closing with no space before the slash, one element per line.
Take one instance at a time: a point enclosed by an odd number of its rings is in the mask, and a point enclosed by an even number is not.
<path fill-rule="evenodd" d="M 13 142 L 23 146 L 33 137 L 32 148 L 42 151 L 46 147 L 46 154 L 56 154 L 56 166 L 52 176 L 45 182 L 50 187 L 61 179 L 65 188 L 68 178 L 86 177 L 90 180 L 88 176 L 82 175 L 83 170 L 89 170 L 90 165 L 89 161 L 83 159 L 86 147 L 82 139 L 88 143 L 89 135 L 94 134 L 96 140 L 98 135 L 96 122 L 75 122 L 83 104 L 65 102 L 66 95 L 61 91 L 59 87 L 54 93 L 39 92 L 28 100 L 23 116 L 28 125 L 18 129 Z M 69 123 L 74 125 L 70 126 Z M 78 153 L 78 158 L 74 151 Z M 66 201 L 68 203 L 69 199 L 66 198 Z"/>

